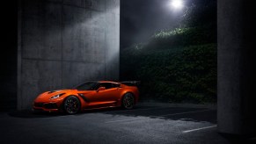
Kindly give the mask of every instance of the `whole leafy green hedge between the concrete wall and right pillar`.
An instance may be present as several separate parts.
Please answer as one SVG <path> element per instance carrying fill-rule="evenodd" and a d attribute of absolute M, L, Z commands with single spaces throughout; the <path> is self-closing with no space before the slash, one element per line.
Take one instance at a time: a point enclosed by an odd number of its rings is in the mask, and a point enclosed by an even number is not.
<path fill-rule="evenodd" d="M 175 29 L 121 50 L 121 79 L 142 81 L 143 99 L 215 102 L 216 43 L 206 35 L 200 28 Z"/>

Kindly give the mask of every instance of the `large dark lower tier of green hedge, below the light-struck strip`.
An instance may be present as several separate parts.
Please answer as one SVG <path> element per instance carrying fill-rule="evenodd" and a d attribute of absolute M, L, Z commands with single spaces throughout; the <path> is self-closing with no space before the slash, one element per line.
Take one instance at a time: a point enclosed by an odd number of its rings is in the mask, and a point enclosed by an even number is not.
<path fill-rule="evenodd" d="M 216 100 L 216 44 L 129 52 L 122 56 L 128 65 L 121 69 L 126 69 L 126 77 L 142 81 L 143 98 L 192 103 Z"/>

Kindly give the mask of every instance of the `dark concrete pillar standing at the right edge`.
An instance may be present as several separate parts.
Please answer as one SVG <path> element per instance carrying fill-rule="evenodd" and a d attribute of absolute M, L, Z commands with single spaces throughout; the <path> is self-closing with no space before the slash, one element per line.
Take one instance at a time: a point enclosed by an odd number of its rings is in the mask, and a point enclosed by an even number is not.
<path fill-rule="evenodd" d="M 242 135 L 255 133 L 254 4 L 252 0 L 218 0 L 217 4 L 218 131 Z"/>

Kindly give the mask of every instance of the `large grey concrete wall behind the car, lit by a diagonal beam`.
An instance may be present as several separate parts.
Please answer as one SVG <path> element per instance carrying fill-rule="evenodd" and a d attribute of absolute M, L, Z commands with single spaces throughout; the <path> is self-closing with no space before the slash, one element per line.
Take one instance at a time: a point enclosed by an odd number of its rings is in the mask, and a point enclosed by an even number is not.
<path fill-rule="evenodd" d="M 43 91 L 119 80 L 120 0 L 20 0 L 18 109 Z"/>

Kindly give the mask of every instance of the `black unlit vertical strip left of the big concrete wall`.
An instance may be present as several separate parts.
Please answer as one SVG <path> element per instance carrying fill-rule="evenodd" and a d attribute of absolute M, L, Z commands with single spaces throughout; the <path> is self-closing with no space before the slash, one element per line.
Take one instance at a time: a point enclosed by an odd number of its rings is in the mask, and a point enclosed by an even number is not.
<path fill-rule="evenodd" d="M 1 9 L 0 111 L 17 106 L 18 1 L 4 1 Z"/>

